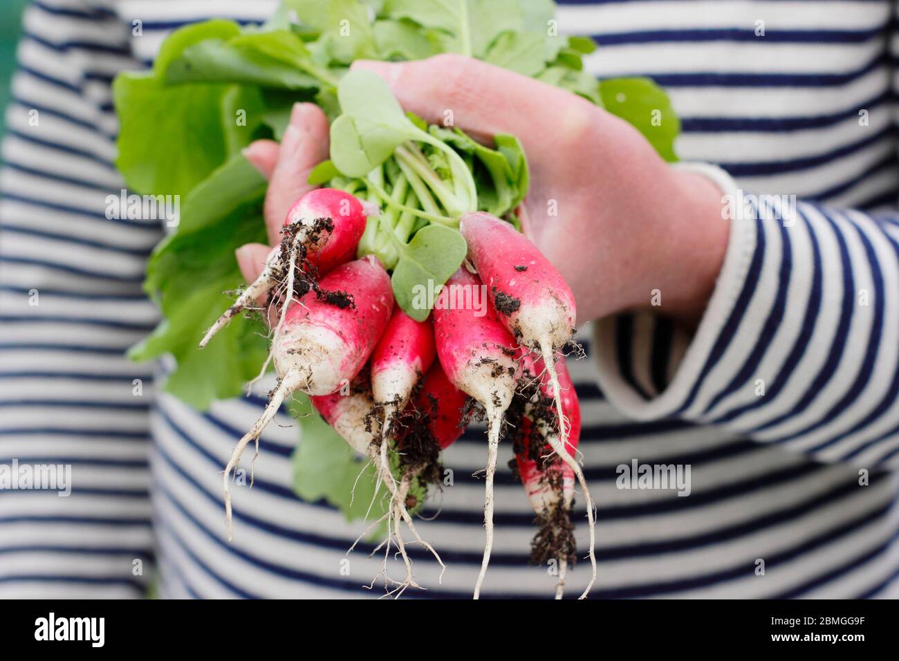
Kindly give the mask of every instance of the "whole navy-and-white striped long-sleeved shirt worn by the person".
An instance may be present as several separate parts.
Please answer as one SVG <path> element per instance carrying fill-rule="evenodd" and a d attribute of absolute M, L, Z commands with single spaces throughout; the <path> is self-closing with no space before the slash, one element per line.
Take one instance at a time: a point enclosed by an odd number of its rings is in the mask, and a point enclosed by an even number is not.
<path fill-rule="evenodd" d="M 559 7 L 562 31 L 601 44 L 592 73 L 668 89 L 681 158 L 720 165 L 696 167 L 734 200 L 760 193 L 739 206 L 695 331 L 647 313 L 581 332 L 590 357 L 570 369 L 598 505 L 594 596 L 899 596 L 895 5 Z M 263 433 L 254 487 L 235 489 L 225 540 L 221 470 L 271 383 L 199 413 L 155 392 L 165 364 L 123 355 L 157 321 L 140 282 L 162 229 L 104 216 L 122 187 L 111 78 L 146 67 L 185 22 L 259 22 L 273 6 L 40 0 L 25 13 L 3 143 L 0 466 L 70 465 L 72 493 L 0 491 L 0 596 L 139 596 L 154 580 L 174 598 L 378 594 L 361 587 L 380 566 L 372 545 L 342 562 L 362 526 L 294 495 L 286 414 Z M 471 594 L 485 455 L 479 429 L 444 453 L 454 486 L 418 526 L 449 569 L 438 583 L 411 549 L 429 587 L 414 596 Z M 509 457 L 503 447 L 484 594 L 548 597 L 555 578 L 527 563 L 533 514 Z M 689 466 L 690 495 L 619 488 L 635 461 Z M 588 572 L 578 563 L 570 592 Z"/>

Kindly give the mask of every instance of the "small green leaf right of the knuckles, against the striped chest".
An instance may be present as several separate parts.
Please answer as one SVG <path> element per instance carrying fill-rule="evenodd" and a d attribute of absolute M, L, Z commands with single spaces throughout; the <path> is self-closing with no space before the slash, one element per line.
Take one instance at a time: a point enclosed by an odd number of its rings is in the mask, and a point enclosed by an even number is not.
<path fill-rule="evenodd" d="M 639 130 L 666 161 L 676 161 L 681 121 L 671 99 L 649 78 L 610 78 L 600 84 L 602 105 Z"/>

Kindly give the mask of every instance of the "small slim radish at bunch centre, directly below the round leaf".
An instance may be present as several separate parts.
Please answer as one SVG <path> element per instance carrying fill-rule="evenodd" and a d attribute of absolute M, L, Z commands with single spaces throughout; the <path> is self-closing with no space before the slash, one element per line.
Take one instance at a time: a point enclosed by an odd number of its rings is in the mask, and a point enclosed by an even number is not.
<path fill-rule="evenodd" d="M 387 330 L 371 354 L 371 391 L 383 410 L 381 468 L 389 474 L 387 443 L 390 425 L 405 408 L 415 384 L 434 362 L 434 331 L 430 321 L 420 322 L 396 308 Z"/>

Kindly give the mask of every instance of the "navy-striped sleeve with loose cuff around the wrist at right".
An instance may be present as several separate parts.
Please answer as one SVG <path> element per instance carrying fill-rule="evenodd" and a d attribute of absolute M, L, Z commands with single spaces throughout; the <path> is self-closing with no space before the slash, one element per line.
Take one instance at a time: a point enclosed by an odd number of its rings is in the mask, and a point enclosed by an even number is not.
<path fill-rule="evenodd" d="M 695 331 L 653 312 L 594 330 L 601 389 L 639 420 L 717 424 L 859 467 L 899 461 L 899 214 L 743 192 Z M 723 220 L 724 221 L 724 220 Z M 689 268 L 689 266 L 685 266 Z"/>

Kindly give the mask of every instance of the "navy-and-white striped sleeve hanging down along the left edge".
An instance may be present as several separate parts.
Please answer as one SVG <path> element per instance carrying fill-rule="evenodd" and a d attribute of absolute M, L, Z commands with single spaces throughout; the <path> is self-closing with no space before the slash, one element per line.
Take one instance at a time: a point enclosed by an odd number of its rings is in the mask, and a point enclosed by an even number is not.
<path fill-rule="evenodd" d="M 90 0 L 34 3 L 0 173 L 0 595 L 143 596 L 151 580 L 141 291 L 153 220 L 119 196 L 111 79 L 129 26 Z"/>

